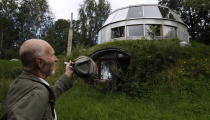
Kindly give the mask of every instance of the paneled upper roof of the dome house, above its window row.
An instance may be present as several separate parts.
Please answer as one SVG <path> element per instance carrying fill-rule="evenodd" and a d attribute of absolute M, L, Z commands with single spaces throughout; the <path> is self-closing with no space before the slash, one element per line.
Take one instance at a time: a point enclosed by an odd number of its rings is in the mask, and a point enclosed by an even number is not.
<path fill-rule="evenodd" d="M 123 7 L 113 11 L 105 21 L 103 27 L 118 21 L 144 18 L 169 19 L 184 24 L 181 18 L 168 7 L 157 4 L 143 4 Z"/>

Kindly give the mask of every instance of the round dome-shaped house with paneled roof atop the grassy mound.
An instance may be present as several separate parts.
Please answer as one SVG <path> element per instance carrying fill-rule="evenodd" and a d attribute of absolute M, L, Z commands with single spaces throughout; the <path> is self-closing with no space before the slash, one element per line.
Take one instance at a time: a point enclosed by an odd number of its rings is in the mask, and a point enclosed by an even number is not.
<path fill-rule="evenodd" d="M 98 33 L 98 43 L 130 39 L 172 39 L 189 43 L 187 25 L 171 9 L 154 4 L 113 11 Z"/>

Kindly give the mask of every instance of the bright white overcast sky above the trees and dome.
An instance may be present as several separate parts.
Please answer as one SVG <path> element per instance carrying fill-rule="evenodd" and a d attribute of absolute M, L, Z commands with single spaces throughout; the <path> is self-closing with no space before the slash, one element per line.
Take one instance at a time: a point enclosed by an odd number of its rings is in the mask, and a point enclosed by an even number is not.
<path fill-rule="evenodd" d="M 71 12 L 73 19 L 78 19 L 78 10 L 84 0 L 48 0 L 55 19 L 70 19 Z M 158 0 L 108 0 L 111 4 L 111 11 L 121 7 L 136 4 L 157 4 Z"/>

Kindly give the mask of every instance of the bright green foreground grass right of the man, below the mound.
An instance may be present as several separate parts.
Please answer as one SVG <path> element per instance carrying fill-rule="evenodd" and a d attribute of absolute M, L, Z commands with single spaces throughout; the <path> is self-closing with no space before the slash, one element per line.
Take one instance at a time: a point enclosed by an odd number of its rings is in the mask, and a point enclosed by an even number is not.
<path fill-rule="evenodd" d="M 56 102 L 61 120 L 209 120 L 210 98 L 186 91 L 153 91 L 150 98 L 99 92 L 76 85 Z"/>

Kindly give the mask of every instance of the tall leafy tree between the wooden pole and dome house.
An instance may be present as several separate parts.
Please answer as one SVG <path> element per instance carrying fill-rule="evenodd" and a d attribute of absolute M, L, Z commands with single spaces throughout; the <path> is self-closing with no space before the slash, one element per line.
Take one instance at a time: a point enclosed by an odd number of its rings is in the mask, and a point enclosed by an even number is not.
<path fill-rule="evenodd" d="M 110 4 L 106 0 L 85 0 L 79 9 L 82 44 L 96 44 L 97 33 L 110 13 Z"/>

